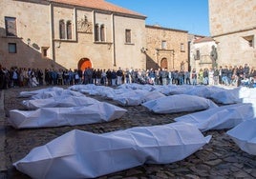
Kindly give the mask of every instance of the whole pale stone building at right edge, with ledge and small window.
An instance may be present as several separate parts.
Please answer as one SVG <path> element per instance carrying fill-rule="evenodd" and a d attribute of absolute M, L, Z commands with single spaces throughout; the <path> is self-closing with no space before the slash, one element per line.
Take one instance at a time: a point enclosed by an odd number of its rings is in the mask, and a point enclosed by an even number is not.
<path fill-rule="evenodd" d="M 209 0 L 210 34 L 218 64 L 256 67 L 256 1 Z"/>

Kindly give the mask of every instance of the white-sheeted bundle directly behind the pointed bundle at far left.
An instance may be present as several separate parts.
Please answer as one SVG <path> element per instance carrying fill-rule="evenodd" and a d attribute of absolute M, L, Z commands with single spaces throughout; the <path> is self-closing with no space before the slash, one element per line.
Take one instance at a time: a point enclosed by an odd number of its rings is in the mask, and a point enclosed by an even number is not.
<path fill-rule="evenodd" d="M 96 99 L 86 97 L 82 94 L 82 96 L 56 96 L 46 99 L 24 100 L 22 104 L 27 109 L 40 109 L 90 106 L 98 102 Z"/>

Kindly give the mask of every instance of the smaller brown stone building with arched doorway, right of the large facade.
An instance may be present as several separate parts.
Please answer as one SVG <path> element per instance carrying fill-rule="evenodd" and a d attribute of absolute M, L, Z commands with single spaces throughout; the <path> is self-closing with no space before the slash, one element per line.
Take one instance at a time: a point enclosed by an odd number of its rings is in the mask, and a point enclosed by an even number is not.
<path fill-rule="evenodd" d="M 188 70 L 186 30 L 146 26 L 147 69 Z"/>

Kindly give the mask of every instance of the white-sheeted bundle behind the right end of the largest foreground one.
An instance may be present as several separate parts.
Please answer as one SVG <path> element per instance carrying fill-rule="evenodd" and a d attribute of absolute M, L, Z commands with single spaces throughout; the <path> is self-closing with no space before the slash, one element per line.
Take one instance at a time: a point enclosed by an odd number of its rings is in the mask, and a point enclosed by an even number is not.
<path fill-rule="evenodd" d="M 251 104 L 235 104 L 183 115 L 174 120 L 195 125 L 198 129 L 206 131 L 232 129 L 254 116 Z"/>

